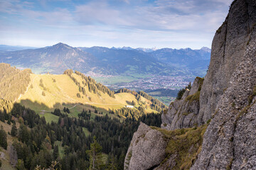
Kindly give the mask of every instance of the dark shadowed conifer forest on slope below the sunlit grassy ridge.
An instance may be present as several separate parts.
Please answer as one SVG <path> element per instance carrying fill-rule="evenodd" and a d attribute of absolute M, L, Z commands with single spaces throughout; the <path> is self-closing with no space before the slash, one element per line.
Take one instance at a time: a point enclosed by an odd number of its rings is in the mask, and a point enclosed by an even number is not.
<path fill-rule="evenodd" d="M 108 114 L 92 118 L 87 111 L 78 114 L 78 118 L 58 109 L 51 114 L 57 113 L 58 122 L 47 123 L 44 117 L 17 103 L 11 113 L 0 111 L 4 169 L 36 169 L 38 165 L 41 169 L 122 169 L 139 121 L 161 125 L 161 114 L 154 113 L 122 122 Z"/>

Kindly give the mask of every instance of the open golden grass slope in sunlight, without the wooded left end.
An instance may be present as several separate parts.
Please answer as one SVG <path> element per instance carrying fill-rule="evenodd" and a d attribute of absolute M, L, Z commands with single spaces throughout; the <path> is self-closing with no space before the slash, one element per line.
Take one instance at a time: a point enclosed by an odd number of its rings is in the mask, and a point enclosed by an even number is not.
<path fill-rule="evenodd" d="M 141 106 L 146 108 L 147 113 L 154 111 L 151 110 L 151 101 L 142 96 L 138 101 L 133 94 L 129 93 L 118 93 L 111 97 L 109 94 L 98 90 L 95 94 L 93 91 L 89 91 L 88 86 L 82 84 L 84 79 L 75 73 L 70 75 L 31 74 L 30 77 L 31 82 L 28 84 L 27 90 L 18 98 L 21 104 L 30 108 L 33 108 L 31 106 L 33 103 L 38 103 L 42 106 L 41 109 L 64 108 L 67 104 L 71 107 L 77 103 L 82 103 L 97 108 L 105 108 L 108 111 L 109 109 L 124 108 L 134 101 L 134 108 Z M 85 93 L 80 91 L 79 86 L 71 77 L 79 82 L 80 86 L 85 89 Z M 43 106 L 46 107 L 43 108 Z"/>

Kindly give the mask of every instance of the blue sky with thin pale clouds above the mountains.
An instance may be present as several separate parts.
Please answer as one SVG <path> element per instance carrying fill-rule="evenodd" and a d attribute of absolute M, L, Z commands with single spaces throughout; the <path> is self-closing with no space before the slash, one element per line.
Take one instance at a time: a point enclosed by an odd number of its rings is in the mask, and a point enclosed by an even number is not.
<path fill-rule="evenodd" d="M 0 44 L 210 47 L 233 0 L 0 0 Z"/>

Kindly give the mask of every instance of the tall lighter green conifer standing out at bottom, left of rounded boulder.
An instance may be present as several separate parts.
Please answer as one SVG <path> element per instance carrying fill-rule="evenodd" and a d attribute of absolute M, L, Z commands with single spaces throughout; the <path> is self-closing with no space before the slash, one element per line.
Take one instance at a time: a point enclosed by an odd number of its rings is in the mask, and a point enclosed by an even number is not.
<path fill-rule="evenodd" d="M 93 143 L 90 144 L 90 150 L 87 150 L 87 154 L 90 156 L 89 169 L 100 169 L 102 166 L 102 146 L 96 141 L 96 137 L 93 137 Z"/>

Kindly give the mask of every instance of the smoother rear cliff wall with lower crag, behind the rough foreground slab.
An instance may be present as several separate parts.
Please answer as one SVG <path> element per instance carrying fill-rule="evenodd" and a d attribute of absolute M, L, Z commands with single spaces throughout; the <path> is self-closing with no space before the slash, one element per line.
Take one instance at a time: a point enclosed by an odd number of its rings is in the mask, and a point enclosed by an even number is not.
<path fill-rule="evenodd" d="M 240 62 L 245 60 L 247 45 L 256 39 L 255 27 L 256 1 L 233 1 L 227 18 L 213 38 L 210 65 L 203 81 L 199 103 L 188 104 L 186 100 L 172 103 L 167 114 L 162 116 L 162 128 L 174 130 L 203 125 L 213 117 L 217 103 L 225 89 L 230 86 L 233 72 Z M 183 95 L 183 99 L 187 97 L 186 95 L 188 94 Z M 183 116 L 175 114 L 178 111 L 189 111 L 191 107 L 196 108 L 191 114 Z"/>

